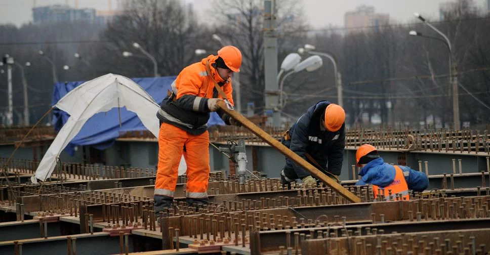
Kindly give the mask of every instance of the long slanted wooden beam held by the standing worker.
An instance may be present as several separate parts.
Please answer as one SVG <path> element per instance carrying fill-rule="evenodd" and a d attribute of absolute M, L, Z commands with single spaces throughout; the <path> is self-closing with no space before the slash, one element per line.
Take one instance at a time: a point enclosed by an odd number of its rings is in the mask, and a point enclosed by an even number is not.
<path fill-rule="evenodd" d="M 305 159 L 302 157 L 298 156 L 296 153 L 294 153 L 292 150 L 290 150 L 288 147 L 285 147 L 282 145 L 279 141 L 271 137 L 269 134 L 267 134 L 265 131 L 261 130 L 257 125 L 255 125 L 252 121 L 248 120 L 246 117 L 241 115 L 239 112 L 230 110 L 226 103 L 223 101 L 218 102 L 218 106 L 225 111 L 228 115 L 230 115 L 232 118 L 234 118 L 236 121 L 240 122 L 245 128 L 250 130 L 252 133 L 260 137 L 264 142 L 268 143 L 270 146 L 276 148 L 279 150 L 280 153 L 284 154 L 284 156 L 289 157 L 291 160 L 293 160 L 295 163 L 306 169 L 308 172 L 310 172 L 313 176 L 321 180 L 323 183 L 326 185 L 332 187 L 335 191 L 337 191 L 340 195 L 345 197 L 347 200 L 357 203 L 360 202 L 360 198 L 358 198 L 356 195 L 352 194 L 350 191 L 348 191 L 346 188 L 342 187 L 339 183 L 336 181 L 332 180 L 325 174 L 323 174 L 321 171 L 319 171 L 317 168 L 315 168 L 312 164 L 308 163 Z"/>

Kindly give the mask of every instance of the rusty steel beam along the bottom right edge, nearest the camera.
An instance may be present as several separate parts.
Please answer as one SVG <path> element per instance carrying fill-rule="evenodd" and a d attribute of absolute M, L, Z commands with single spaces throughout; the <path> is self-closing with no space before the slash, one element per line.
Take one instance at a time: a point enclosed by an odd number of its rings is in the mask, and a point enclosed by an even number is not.
<path fill-rule="evenodd" d="M 383 234 L 315 238 L 301 243 L 302 254 L 485 254 L 490 246 L 490 229 L 458 231 L 427 231 L 404 234 Z M 483 246 L 481 246 L 483 245 Z M 456 248 L 456 252 L 455 249 Z M 396 253 L 395 253 L 396 252 Z"/>

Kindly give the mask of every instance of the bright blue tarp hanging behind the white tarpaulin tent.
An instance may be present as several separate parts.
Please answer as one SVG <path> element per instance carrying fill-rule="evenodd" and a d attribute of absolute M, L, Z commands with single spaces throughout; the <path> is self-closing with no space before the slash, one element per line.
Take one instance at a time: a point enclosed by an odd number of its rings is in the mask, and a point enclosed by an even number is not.
<path fill-rule="evenodd" d="M 167 90 L 171 90 L 170 85 L 175 76 L 155 77 L 155 78 L 132 78 L 133 81 L 143 88 L 157 104 L 167 95 Z M 85 81 L 57 82 L 53 91 L 52 105 L 55 105 L 68 92 L 84 83 Z M 119 137 L 120 131 L 142 131 L 145 126 L 138 118 L 136 113 L 120 108 L 121 127 L 119 127 L 119 113 L 117 108 L 108 112 L 100 112 L 92 116 L 78 132 L 78 134 L 66 146 L 65 151 L 69 155 L 74 154 L 75 146 L 91 145 L 99 150 L 105 150 L 114 144 Z M 69 115 L 59 109 L 53 109 L 53 125 L 59 131 L 68 120 Z M 155 112 L 156 119 L 156 112 Z M 209 126 L 224 125 L 221 118 L 213 112 L 208 121 Z"/>

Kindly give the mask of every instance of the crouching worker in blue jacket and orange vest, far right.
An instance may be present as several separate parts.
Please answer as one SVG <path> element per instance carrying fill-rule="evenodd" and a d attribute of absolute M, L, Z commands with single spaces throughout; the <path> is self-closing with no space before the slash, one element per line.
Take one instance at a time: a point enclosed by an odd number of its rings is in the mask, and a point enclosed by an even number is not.
<path fill-rule="evenodd" d="M 355 185 L 373 184 L 375 198 L 379 193 L 386 200 L 396 200 L 396 196 L 409 200 L 409 190 L 424 191 L 429 186 L 429 179 L 422 173 L 404 165 L 385 163 L 373 145 L 361 145 L 355 154 L 356 165 L 362 167 L 361 179 Z M 389 195 L 391 191 L 391 196 Z"/>

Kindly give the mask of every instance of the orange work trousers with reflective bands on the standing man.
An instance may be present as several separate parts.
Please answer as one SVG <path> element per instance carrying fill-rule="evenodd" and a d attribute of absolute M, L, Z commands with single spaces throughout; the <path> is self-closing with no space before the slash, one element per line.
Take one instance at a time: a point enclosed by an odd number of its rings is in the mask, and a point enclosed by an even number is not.
<path fill-rule="evenodd" d="M 187 164 L 186 197 L 208 198 L 210 172 L 208 131 L 200 135 L 192 135 L 165 122 L 161 124 L 158 134 L 158 170 L 154 194 L 174 197 L 182 154 Z"/>

